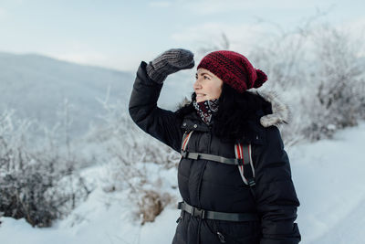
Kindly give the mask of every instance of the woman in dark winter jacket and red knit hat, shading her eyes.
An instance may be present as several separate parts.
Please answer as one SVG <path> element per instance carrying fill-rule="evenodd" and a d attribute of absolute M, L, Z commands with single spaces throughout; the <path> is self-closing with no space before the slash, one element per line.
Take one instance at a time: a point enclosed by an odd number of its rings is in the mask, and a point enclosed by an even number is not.
<path fill-rule="evenodd" d="M 299 201 L 273 126 L 287 119 L 285 106 L 247 91 L 260 87 L 266 74 L 223 50 L 199 63 L 192 102 L 178 111 L 158 108 L 166 77 L 193 66 L 193 53 L 185 49 L 142 61 L 129 105 L 144 132 L 182 153 L 182 212 L 172 243 L 298 243 Z"/>

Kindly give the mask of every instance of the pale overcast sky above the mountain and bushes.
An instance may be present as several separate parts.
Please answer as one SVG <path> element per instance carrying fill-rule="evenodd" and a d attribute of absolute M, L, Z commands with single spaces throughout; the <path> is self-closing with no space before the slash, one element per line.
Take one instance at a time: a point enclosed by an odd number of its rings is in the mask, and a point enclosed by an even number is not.
<path fill-rule="evenodd" d="M 0 51 L 134 71 L 142 59 L 194 51 L 222 32 L 242 50 L 318 10 L 334 25 L 364 27 L 364 9 L 363 0 L 0 0 Z"/>

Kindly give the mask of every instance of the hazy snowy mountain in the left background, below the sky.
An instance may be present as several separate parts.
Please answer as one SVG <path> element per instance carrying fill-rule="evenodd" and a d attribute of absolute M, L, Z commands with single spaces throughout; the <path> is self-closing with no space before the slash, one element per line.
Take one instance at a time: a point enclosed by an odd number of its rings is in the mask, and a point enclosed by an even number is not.
<path fill-rule="evenodd" d="M 193 90 L 193 79 L 190 84 L 183 82 L 187 74 L 183 72 L 165 82 L 159 101 L 162 107 L 175 108 L 176 103 Z M 36 54 L 0 52 L 0 113 L 13 109 L 17 118 L 36 120 L 52 127 L 60 121 L 57 114 L 68 100 L 69 117 L 73 121 L 71 132 L 78 135 L 87 131 L 89 122 L 100 122 L 98 117 L 105 111 L 98 99 L 103 100 L 108 90 L 110 103 L 120 101 L 126 109 L 134 79 L 135 73 L 79 65 Z"/>

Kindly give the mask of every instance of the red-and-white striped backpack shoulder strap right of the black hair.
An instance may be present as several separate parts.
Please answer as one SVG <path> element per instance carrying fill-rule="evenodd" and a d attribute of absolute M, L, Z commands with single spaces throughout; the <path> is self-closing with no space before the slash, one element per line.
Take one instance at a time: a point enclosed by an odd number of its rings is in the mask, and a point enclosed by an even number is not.
<path fill-rule="evenodd" d="M 255 186 L 255 167 L 251 158 L 251 144 L 236 143 L 235 157 L 242 159 L 242 164 L 238 165 L 238 170 L 245 185 Z"/>

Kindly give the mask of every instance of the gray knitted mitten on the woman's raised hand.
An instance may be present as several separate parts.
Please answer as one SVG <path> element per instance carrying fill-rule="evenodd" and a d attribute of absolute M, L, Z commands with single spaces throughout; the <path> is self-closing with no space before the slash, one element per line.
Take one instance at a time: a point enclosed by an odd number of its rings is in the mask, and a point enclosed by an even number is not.
<path fill-rule="evenodd" d="M 181 69 L 192 69 L 193 66 L 193 53 L 186 49 L 175 48 L 153 59 L 146 69 L 151 80 L 162 83 L 168 75 Z"/>

